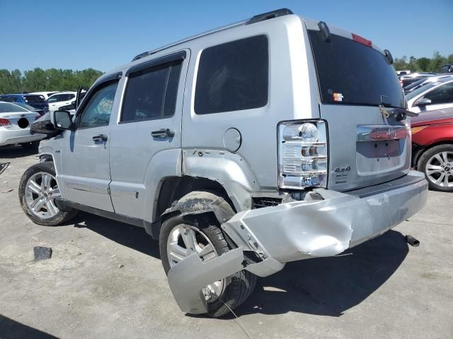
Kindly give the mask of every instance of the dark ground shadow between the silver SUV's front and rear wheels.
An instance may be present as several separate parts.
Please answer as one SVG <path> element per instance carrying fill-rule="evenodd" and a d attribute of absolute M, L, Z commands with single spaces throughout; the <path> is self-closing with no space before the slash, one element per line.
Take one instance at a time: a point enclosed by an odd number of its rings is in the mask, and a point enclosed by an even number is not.
<path fill-rule="evenodd" d="M 87 228 L 117 244 L 130 247 L 154 258 L 160 258 L 159 242 L 154 241 L 142 227 L 82 212 L 72 222 L 76 222 L 74 227 Z"/>

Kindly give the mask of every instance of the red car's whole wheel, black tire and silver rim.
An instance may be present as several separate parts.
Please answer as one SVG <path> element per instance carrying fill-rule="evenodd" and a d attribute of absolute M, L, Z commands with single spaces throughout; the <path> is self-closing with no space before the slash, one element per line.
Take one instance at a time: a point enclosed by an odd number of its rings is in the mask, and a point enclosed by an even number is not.
<path fill-rule="evenodd" d="M 428 148 L 420 155 L 417 168 L 425 173 L 430 189 L 453 192 L 453 144 Z"/>

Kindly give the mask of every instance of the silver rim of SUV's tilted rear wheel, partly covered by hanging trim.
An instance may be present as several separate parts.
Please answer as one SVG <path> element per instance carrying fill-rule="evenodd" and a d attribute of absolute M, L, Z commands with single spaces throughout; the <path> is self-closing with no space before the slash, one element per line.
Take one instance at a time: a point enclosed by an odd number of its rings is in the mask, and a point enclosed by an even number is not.
<path fill-rule="evenodd" d="M 197 253 L 201 261 L 210 261 L 219 256 L 214 244 L 197 227 L 183 224 L 173 228 L 167 240 L 167 256 L 170 267 L 172 268 L 194 253 Z M 225 279 L 222 279 L 202 288 L 207 302 L 217 300 L 224 292 L 225 285 Z"/>

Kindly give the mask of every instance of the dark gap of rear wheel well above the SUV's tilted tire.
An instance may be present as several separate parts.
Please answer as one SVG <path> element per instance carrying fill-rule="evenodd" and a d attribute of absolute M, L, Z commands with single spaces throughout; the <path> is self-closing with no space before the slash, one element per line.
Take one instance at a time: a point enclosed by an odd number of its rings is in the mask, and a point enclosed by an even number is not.
<path fill-rule="evenodd" d="M 210 191 L 224 198 L 236 212 L 234 204 L 226 193 L 224 186 L 219 184 L 219 182 L 201 177 L 168 177 L 161 184 L 161 190 L 157 198 L 155 220 L 159 219 L 160 215 L 171 206 L 173 201 L 178 201 L 192 191 Z"/>

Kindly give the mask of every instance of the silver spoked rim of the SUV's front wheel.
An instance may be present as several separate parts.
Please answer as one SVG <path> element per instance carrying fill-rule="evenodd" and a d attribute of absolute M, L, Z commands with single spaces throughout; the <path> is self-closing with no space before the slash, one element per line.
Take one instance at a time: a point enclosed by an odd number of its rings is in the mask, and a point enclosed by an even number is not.
<path fill-rule="evenodd" d="M 40 219 L 49 219 L 59 213 L 55 206 L 55 198 L 59 196 L 57 179 L 46 172 L 33 174 L 25 185 L 25 203 L 30 212 Z"/>

